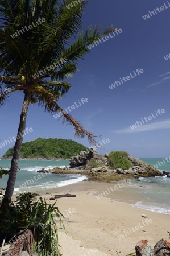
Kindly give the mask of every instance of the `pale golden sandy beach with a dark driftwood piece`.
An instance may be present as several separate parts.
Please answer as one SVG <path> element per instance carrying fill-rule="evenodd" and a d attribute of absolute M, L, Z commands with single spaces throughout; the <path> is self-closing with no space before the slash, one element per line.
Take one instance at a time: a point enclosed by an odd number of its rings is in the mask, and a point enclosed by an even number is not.
<path fill-rule="evenodd" d="M 67 235 L 63 229 L 59 230 L 63 256 L 125 256 L 135 251 L 139 240 L 149 240 L 152 247 L 162 237 L 169 241 L 168 214 L 132 207 L 130 204 L 138 199 L 123 188 L 98 199 L 99 193 L 108 192 L 109 187 L 109 183 L 81 182 L 39 191 L 47 200 L 63 193 L 76 195 L 57 200 L 67 220 Z"/>

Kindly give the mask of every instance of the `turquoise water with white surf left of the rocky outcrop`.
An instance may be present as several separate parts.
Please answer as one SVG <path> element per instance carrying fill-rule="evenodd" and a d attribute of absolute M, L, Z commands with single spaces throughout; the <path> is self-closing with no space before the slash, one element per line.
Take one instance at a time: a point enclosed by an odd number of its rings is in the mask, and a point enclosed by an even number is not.
<path fill-rule="evenodd" d="M 10 160 L 0 160 L 0 166 L 3 168 L 10 168 Z M 82 175 L 71 174 L 44 174 L 37 172 L 42 168 L 51 169 L 55 166 L 63 168 L 69 166 L 69 161 L 27 161 L 20 160 L 18 167 L 18 174 L 16 176 L 16 183 L 14 193 L 16 191 L 36 191 L 47 188 L 56 188 L 64 185 L 80 182 L 87 179 Z M 0 179 L 0 187 L 5 187 L 8 176 L 3 176 Z"/>

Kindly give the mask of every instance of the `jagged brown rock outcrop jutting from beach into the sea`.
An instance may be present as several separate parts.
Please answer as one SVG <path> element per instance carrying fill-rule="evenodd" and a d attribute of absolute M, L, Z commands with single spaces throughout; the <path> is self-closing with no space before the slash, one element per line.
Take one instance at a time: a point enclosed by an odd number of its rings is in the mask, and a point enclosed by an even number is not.
<path fill-rule="evenodd" d="M 92 181 L 120 181 L 126 177 L 151 177 L 162 176 L 162 172 L 156 170 L 150 164 L 143 162 L 138 158 L 132 158 L 127 155 L 128 160 L 132 163 L 132 167 L 128 170 L 122 168 L 113 169 L 110 167 L 109 155 L 99 155 L 96 151 L 81 151 L 80 155 L 72 156 L 70 167 L 61 169 L 55 167 L 52 170 L 41 170 L 39 172 L 52 172 L 55 174 L 82 174 L 88 175 Z"/>

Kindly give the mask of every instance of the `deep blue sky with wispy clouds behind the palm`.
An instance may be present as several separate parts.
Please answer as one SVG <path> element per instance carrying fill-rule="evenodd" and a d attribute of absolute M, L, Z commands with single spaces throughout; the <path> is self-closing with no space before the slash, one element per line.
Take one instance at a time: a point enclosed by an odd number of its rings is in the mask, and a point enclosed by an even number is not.
<path fill-rule="evenodd" d="M 78 105 L 78 100 L 88 98 L 88 102 L 69 112 L 87 130 L 101 138 L 109 139 L 99 154 L 123 150 L 137 158 L 165 158 L 170 156 L 169 143 L 169 82 L 170 59 L 170 7 L 144 20 L 142 16 L 157 7 L 168 7 L 165 0 L 125 1 L 92 0 L 84 13 L 84 26 L 114 24 L 122 33 L 94 47 L 85 55 L 78 68 L 81 72 L 69 81 L 73 85 L 70 92 L 60 100 L 62 108 Z M 136 69 L 143 73 L 123 84 L 110 89 L 109 86 L 122 77 L 134 76 Z M 16 136 L 23 94 L 11 94 L 5 106 L 1 106 L 0 143 Z M 141 118 L 157 113 L 150 121 L 134 130 L 130 126 Z M 155 116 L 155 115 L 154 115 Z M 72 126 L 62 125 L 61 119 L 54 118 L 36 104 L 30 106 L 27 125 L 32 133 L 23 141 L 38 137 L 73 139 L 89 147 L 87 138 L 74 137 Z M 97 141 L 101 141 L 99 137 Z M 0 148 L 2 156 L 14 142 Z"/>

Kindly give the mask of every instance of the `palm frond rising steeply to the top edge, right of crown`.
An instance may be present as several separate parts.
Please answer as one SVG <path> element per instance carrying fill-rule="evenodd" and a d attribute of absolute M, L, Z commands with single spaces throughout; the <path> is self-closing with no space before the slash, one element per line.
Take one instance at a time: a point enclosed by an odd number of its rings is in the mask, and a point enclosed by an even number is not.
<path fill-rule="evenodd" d="M 72 0 L 65 0 L 58 4 L 55 13 L 56 19 L 53 21 L 52 27 L 44 26 L 42 41 L 38 51 L 36 49 L 39 59 L 38 68 L 47 64 L 47 57 L 51 63 L 59 59 L 61 51 L 64 51 L 64 44 L 68 43 L 68 40 L 80 30 L 85 2 L 78 2 L 68 10 L 67 5 L 71 3 Z"/>

